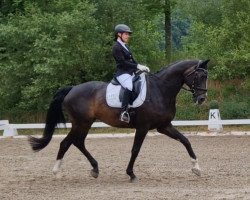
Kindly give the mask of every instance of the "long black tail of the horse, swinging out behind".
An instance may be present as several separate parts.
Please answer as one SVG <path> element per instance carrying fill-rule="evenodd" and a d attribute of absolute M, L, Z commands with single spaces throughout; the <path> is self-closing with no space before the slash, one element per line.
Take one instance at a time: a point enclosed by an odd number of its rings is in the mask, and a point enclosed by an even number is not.
<path fill-rule="evenodd" d="M 47 112 L 46 125 L 43 132 L 43 137 L 29 137 L 30 145 L 34 151 L 40 151 L 49 144 L 57 123 L 66 122 L 62 111 L 62 102 L 71 89 L 72 87 L 62 88 L 58 90 L 54 95 Z"/>

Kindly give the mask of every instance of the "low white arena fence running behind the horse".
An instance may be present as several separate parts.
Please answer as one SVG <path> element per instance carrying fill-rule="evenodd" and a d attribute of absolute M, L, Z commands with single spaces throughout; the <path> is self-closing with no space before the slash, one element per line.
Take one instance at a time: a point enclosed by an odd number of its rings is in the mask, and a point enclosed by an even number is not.
<path fill-rule="evenodd" d="M 188 121 L 172 121 L 174 126 L 208 126 L 209 131 L 222 131 L 223 125 L 250 125 L 250 119 L 209 119 L 209 120 L 188 120 Z M 58 124 L 57 128 L 71 128 L 71 123 Z M 40 124 L 10 124 L 8 120 L 0 120 L 0 130 L 3 130 L 3 136 L 18 135 L 18 129 L 43 129 L 44 123 Z M 108 124 L 103 122 L 95 122 L 92 124 L 94 128 L 107 128 Z"/>

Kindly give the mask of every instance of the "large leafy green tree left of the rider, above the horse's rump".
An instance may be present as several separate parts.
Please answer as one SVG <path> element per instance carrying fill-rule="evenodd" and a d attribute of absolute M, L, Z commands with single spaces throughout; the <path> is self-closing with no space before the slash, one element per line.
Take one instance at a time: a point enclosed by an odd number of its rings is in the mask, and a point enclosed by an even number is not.
<path fill-rule="evenodd" d="M 42 111 L 59 87 L 106 73 L 95 62 L 102 55 L 99 41 L 89 39 L 99 32 L 94 6 L 78 1 L 70 8 L 62 0 L 52 7 L 56 12 L 44 13 L 27 3 L 24 14 L 0 25 L 1 107 Z"/>

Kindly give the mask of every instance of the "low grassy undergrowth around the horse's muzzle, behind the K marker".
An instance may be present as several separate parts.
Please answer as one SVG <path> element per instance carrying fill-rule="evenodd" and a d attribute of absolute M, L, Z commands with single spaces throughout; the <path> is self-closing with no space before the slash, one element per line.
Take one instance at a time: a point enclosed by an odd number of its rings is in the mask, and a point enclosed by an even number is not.
<path fill-rule="evenodd" d="M 210 81 L 213 82 L 213 81 Z M 210 83 L 208 98 L 200 106 L 194 105 L 192 96 L 181 91 L 177 99 L 176 119 L 207 119 L 209 109 L 220 109 L 222 119 L 249 119 L 250 96 L 249 79 L 220 82 L 219 86 Z"/>

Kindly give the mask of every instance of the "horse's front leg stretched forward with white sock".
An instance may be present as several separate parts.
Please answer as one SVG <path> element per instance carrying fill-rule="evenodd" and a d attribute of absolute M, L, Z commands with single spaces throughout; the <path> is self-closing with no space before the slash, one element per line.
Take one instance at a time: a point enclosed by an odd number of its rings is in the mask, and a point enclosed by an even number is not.
<path fill-rule="evenodd" d="M 196 174 L 197 176 L 201 175 L 201 170 L 198 164 L 198 159 L 192 149 L 191 143 L 189 142 L 189 140 L 183 135 L 181 134 L 177 129 L 175 129 L 172 124 L 166 126 L 166 127 L 161 127 L 158 128 L 157 131 L 159 133 L 162 133 L 164 135 L 167 135 L 175 140 L 180 141 L 187 149 L 189 156 L 191 157 L 191 162 L 192 162 L 192 172 L 194 174 Z"/>

